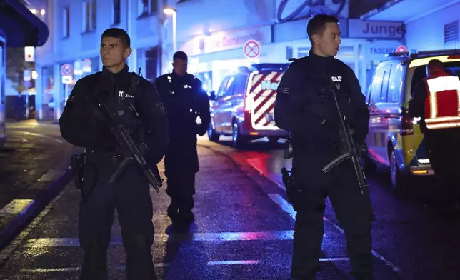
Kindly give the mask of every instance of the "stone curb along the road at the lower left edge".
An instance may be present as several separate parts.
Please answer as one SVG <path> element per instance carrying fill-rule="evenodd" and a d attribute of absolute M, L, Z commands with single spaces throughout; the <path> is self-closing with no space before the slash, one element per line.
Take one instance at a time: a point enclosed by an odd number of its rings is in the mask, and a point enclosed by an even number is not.
<path fill-rule="evenodd" d="M 58 195 L 72 179 L 72 172 L 67 168 L 59 176 L 51 181 L 51 184 L 35 196 L 29 206 L 9 222 L 6 228 L 0 232 L 0 250 L 9 245 L 11 241 L 34 219 L 51 200 Z"/>

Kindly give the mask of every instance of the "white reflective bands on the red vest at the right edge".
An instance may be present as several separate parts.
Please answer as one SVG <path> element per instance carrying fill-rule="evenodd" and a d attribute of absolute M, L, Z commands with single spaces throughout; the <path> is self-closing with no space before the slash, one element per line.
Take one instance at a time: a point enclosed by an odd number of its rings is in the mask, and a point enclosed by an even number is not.
<path fill-rule="evenodd" d="M 430 116 L 425 119 L 427 129 L 446 129 L 460 126 L 460 79 L 456 76 L 440 76 L 426 80 L 429 90 Z M 457 116 L 438 116 L 438 94 L 456 91 L 459 108 Z"/>

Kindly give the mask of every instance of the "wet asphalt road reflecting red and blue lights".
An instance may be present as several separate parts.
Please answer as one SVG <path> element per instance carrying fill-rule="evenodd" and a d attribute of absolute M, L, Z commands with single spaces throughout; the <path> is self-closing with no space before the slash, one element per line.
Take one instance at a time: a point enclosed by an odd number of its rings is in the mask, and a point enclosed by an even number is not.
<path fill-rule="evenodd" d="M 293 216 L 279 183 L 289 164 L 280 146 L 252 144 L 235 151 L 199 141 L 201 171 L 195 195 L 196 222 L 189 234 L 169 234 L 169 199 L 152 191 L 154 263 L 160 279 L 291 279 Z M 267 179 L 268 177 L 268 179 Z M 426 199 L 397 199 L 381 171 L 371 178 L 376 279 L 460 279 L 459 217 Z M 428 200 L 430 201 L 430 200 Z M 79 193 L 66 187 L 16 239 L 18 248 L 0 279 L 78 279 L 82 252 L 77 239 Z M 328 204 L 317 279 L 351 279 L 343 231 Z M 110 279 L 124 279 L 118 223 L 109 248 Z"/>

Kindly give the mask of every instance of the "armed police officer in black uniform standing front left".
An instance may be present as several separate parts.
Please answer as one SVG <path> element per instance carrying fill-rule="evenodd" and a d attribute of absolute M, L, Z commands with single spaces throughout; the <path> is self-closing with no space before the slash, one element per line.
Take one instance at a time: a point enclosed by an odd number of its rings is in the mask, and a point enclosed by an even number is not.
<path fill-rule="evenodd" d="M 117 113 L 116 123 L 125 126 L 136 144 L 148 146 L 146 161 L 156 169 L 167 146 L 166 109 L 155 86 L 129 72 L 126 59 L 130 54 L 130 39 L 123 29 L 104 31 L 103 70 L 76 82 L 59 119 L 64 139 L 86 148 L 79 213 L 79 241 L 84 249 L 82 280 L 108 279 L 106 252 L 115 208 L 126 252 L 127 279 L 157 279 L 151 254 L 154 226 L 149 183 L 134 163 L 122 170 L 117 181 L 109 183 L 123 156 L 111 133 L 112 124 L 94 103 L 98 95 Z"/>

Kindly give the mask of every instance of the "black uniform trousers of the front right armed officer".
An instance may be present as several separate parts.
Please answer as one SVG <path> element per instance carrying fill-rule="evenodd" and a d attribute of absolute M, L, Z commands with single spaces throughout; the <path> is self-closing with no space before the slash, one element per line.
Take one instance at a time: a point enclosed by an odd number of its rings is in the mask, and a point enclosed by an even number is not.
<path fill-rule="evenodd" d="M 313 152 L 294 155 L 294 188 L 301 190 L 293 201 L 297 211 L 291 265 L 294 279 L 314 279 L 320 267 L 326 197 L 345 231 L 353 274 L 364 279 L 373 272 L 371 221 L 375 218 L 369 192 L 361 194 L 351 161 L 324 174 L 321 169 L 331 159 L 333 155 Z"/>

